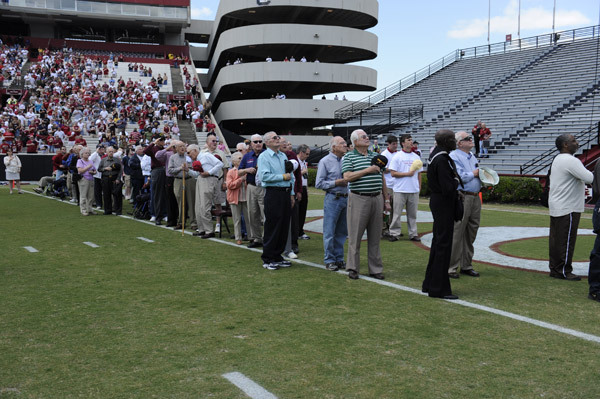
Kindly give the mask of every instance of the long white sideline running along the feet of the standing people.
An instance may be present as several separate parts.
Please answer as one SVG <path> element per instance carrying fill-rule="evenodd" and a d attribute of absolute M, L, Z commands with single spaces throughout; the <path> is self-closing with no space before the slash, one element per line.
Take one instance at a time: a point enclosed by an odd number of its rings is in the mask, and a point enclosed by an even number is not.
<path fill-rule="evenodd" d="M 34 194 L 34 193 L 30 193 L 30 194 Z M 40 195 L 40 197 L 48 198 L 48 197 L 45 197 L 43 195 Z M 134 219 L 131 216 L 122 216 L 122 217 L 126 218 L 126 219 L 135 220 L 135 221 L 140 222 L 140 223 L 154 225 L 154 223 L 149 222 L 147 220 Z M 175 231 L 175 232 L 179 233 L 178 230 L 171 230 L 171 229 L 168 229 L 168 230 Z M 185 233 L 188 234 L 188 235 L 192 234 L 190 231 L 186 231 Z M 229 241 L 223 241 L 223 240 L 218 239 L 218 238 L 209 238 L 209 240 L 211 240 L 213 242 L 218 242 L 218 243 L 221 243 L 221 244 L 229 245 L 229 246 L 232 246 L 232 247 L 236 247 L 236 248 L 239 248 L 239 249 L 244 249 L 244 250 L 247 250 L 247 251 L 253 251 L 253 252 L 262 253 L 262 250 L 260 250 L 260 249 L 247 248 L 245 246 L 237 245 L 237 244 L 235 244 L 233 242 L 229 242 Z M 316 268 L 319 268 L 319 269 L 326 270 L 325 266 L 320 265 L 318 263 L 313 263 L 313 262 L 309 262 L 309 261 L 301 260 L 301 259 L 290 259 L 290 260 L 292 262 L 294 262 L 294 263 L 299 263 L 299 264 L 302 264 L 302 265 L 305 265 L 305 266 L 316 267 Z M 344 271 L 338 271 L 337 273 L 339 273 L 339 274 L 347 274 Z M 423 295 L 423 296 L 427 295 L 427 294 L 422 293 L 421 290 L 418 290 L 418 289 L 415 289 L 415 288 L 411 288 L 411 287 L 407 287 L 407 286 L 400 285 L 400 284 L 391 283 L 389 281 L 377 280 L 377 279 L 374 279 L 374 278 L 371 278 L 371 277 L 362 276 L 362 275 L 360 276 L 360 279 L 361 280 L 369 281 L 371 283 L 383 285 L 383 286 L 386 286 L 386 287 L 394 288 L 396 290 L 410 292 L 412 294 Z M 487 312 L 487 313 L 492 313 L 492 314 L 495 314 L 495 315 L 498 315 L 498 316 L 502 316 L 502 317 L 507 317 L 509 319 L 518 320 L 518 321 L 521 321 L 521 322 L 524 322 L 524 323 L 532 324 L 534 326 L 545 328 L 545 329 L 548 329 L 548 330 L 551 330 L 551 331 L 555 331 L 555 332 L 559 332 L 559 333 L 562 333 L 562 334 L 567 334 L 567 335 L 570 335 L 572 337 L 580 338 L 580 339 L 583 339 L 583 340 L 586 340 L 586 341 L 600 343 L 600 336 L 592 335 L 592 334 L 587 334 L 587 333 L 584 333 L 584 332 L 581 332 L 581 331 L 578 331 L 578 330 L 573 330 L 573 329 L 570 329 L 570 328 L 562 327 L 562 326 L 559 326 L 557 324 L 547 323 L 545 321 L 541 321 L 541 320 L 537 320 L 537 319 L 532 319 L 532 318 L 526 317 L 526 316 L 521 316 L 521 315 L 516 314 L 516 313 L 506 312 L 504 310 L 495 309 L 495 308 L 492 308 L 492 307 L 489 307 L 489 306 L 483 306 L 483 305 L 479 305 L 479 304 L 476 304 L 476 303 L 467 302 L 467 301 L 464 301 L 464 300 L 446 300 L 446 302 L 451 303 L 451 304 L 465 306 L 465 307 L 472 308 L 472 309 L 477 309 L 477 310 L 480 310 L 480 311 L 483 311 L 483 312 Z"/>

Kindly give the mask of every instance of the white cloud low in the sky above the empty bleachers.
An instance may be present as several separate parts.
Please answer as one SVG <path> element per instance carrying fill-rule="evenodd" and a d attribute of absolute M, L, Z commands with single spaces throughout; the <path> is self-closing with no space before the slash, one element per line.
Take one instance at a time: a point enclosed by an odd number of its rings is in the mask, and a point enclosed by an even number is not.
<path fill-rule="evenodd" d="M 509 1 L 502 15 L 492 16 L 490 20 L 491 33 L 513 33 L 516 36 L 518 29 L 518 2 Z M 556 29 L 574 26 L 586 26 L 591 23 L 590 19 L 577 10 L 556 10 Z M 448 31 L 448 37 L 452 39 L 469 39 L 487 36 L 487 18 L 476 18 L 473 20 L 460 20 L 455 27 Z M 544 7 L 521 8 L 521 36 L 523 32 L 533 30 L 552 29 L 552 8 Z"/>

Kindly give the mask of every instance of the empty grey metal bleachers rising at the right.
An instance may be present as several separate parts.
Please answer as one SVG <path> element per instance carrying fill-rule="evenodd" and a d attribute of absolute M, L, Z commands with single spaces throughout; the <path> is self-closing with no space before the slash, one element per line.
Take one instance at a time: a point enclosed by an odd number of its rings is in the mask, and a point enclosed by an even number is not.
<path fill-rule="evenodd" d="M 413 135 L 424 159 L 438 129 L 470 132 L 481 120 L 492 131 L 490 158 L 482 162 L 499 173 L 543 173 L 547 164 L 541 169 L 523 166 L 552 152 L 558 133 L 586 136 L 583 132 L 600 119 L 595 106 L 600 94 L 599 33 L 598 26 L 582 28 L 560 32 L 556 41 L 548 35 L 523 39 L 528 45 L 518 51 L 463 57 L 363 109 L 362 119 L 377 109 L 423 104 L 423 121 L 391 133 Z M 461 55 L 465 52 L 460 50 Z M 358 116 L 346 124 L 353 119 Z"/>

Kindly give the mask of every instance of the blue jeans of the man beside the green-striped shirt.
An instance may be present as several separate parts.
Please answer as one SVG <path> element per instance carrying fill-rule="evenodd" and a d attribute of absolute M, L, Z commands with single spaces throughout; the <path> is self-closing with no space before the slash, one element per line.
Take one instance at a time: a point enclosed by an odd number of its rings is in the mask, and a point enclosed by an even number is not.
<path fill-rule="evenodd" d="M 348 198 L 325 194 L 323 202 L 323 248 L 325 264 L 344 261 L 344 242 L 348 236 L 346 208 Z"/>

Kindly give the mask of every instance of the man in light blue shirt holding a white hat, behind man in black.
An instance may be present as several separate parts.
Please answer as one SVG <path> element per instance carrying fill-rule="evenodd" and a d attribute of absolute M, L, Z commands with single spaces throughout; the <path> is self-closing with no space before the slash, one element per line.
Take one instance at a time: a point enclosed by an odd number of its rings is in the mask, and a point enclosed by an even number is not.
<path fill-rule="evenodd" d="M 459 278 L 460 273 L 471 277 L 479 277 L 479 273 L 473 270 L 473 242 L 477 237 L 479 222 L 481 219 L 481 200 L 479 191 L 481 181 L 479 180 L 479 162 L 471 153 L 473 149 L 473 136 L 460 131 L 456 135 L 456 150 L 450 153 L 450 157 L 456 164 L 458 175 L 462 179 L 463 186 L 459 186 L 464 194 L 465 213 L 461 221 L 454 223 L 454 236 L 452 238 L 452 257 L 448 276 Z"/>

